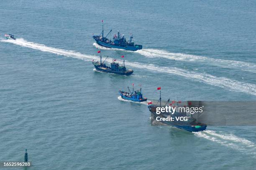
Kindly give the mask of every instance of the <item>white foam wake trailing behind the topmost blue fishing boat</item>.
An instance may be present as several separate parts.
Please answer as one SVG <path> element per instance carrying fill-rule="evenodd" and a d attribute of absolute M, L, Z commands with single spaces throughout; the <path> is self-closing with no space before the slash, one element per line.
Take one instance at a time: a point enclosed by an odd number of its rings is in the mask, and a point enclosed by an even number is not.
<path fill-rule="evenodd" d="M 184 61 L 192 61 L 192 62 L 207 62 L 210 65 L 216 65 L 219 67 L 227 67 L 227 68 L 240 68 L 241 70 L 256 72 L 256 64 L 236 61 L 236 60 L 223 60 L 217 58 L 210 58 L 198 55 L 189 55 L 182 53 L 172 53 L 167 52 L 165 50 L 156 50 L 156 49 L 142 49 L 135 51 L 141 55 L 146 57 L 162 57 L 170 60 L 184 60 Z"/>

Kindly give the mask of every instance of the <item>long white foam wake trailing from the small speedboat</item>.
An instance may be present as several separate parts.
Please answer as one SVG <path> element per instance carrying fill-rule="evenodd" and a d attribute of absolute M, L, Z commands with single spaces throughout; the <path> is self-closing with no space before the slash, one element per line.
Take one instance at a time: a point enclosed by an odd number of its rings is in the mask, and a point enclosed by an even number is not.
<path fill-rule="evenodd" d="M 54 47 L 47 47 L 46 45 L 36 44 L 33 42 L 27 42 L 26 40 L 23 40 L 23 39 L 1 40 L 1 41 L 2 42 L 10 42 L 10 43 L 13 43 L 16 45 L 21 45 L 23 47 L 29 47 L 29 48 L 33 48 L 36 50 L 52 52 L 54 54 L 79 58 L 82 60 L 99 60 L 99 57 L 94 56 L 94 55 L 84 55 L 79 52 L 74 52 L 71 50 L 62 50 L 62 49 L 54 48 Z M 111 59 L 108 59 L 107 61 L 110 62 Z M 239 82 L 236 80 L 230 80 L 225 77 L 215 77 L 213 75 L 209 75 L 206 73 L 197 73 L 197 72 L 187 71 L 187 70 L 179 69 L 176 67 L 172 67 L 172 69 L 170 69 L 169 67 L 157 67 L 155 65 L 146 65 L 146 64 L 142 64 L 142 63 L 138 63 L 138 62 L 125 62 L 125 63 L 126 63 L 126 65 L 130 65 L 132 67 L 138 67 L 138 68 L 143 67 L 144 69 L 151 70 L 154 72 L 164 72 L 164 73 L 168 73 L 168 74 L 174 74 L 174 75 L 179 75 L 182 77 L 187 77 L 189 79 L 204 82 L 209 85 L 222 87 L 222 88 L 225 88 L 226 90 L 230 90 L 230 91 L 244 92 L 244 93 L 247 93 L 250 95 L 256 95 L 256 85 L 250 84 L 250 83 L 243 83 L 243 82 Z"/>

